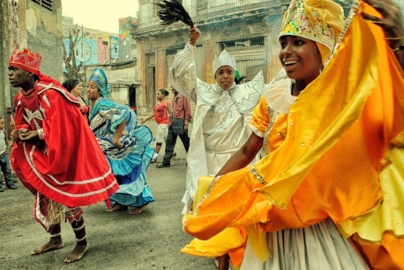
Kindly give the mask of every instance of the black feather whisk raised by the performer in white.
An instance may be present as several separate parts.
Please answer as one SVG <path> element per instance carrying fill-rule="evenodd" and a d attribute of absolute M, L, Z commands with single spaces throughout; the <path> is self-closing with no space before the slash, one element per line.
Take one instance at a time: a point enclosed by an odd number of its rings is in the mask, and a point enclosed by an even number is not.
<path fill-rule="evenodd" d="M 194 22 L 179 0 L 162 0 L 155 4 L 160 6 L 158 16 L 162 20 L 161 25 L 167 26 L 176 21 L 182 21 L 189 27 L 194 26 Z"/>

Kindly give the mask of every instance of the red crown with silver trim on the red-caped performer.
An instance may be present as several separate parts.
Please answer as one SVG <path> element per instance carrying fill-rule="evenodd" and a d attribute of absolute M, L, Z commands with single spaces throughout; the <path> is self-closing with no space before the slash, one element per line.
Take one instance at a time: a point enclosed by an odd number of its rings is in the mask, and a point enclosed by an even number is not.
<path fill-rule="evenodd" d="M 14 52 L 11 54 L 9 66 L 17 66 L 26 71 L 35 73 L 39 75 L 41 72 L 39 68 L 41 67 L 42 57 L 38 52 L 33 54 L 31 50 L 23 48 L 21 52 L 17 51 L 18 44 L 14 45 Z"/>

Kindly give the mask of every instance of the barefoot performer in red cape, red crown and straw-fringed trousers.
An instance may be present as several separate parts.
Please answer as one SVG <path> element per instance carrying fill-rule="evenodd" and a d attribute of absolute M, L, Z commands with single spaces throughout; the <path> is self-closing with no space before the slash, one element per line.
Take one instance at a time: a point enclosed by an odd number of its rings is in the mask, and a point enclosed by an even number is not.
<path fill-rule="evenodd" d="M 9 63 L 15 96 L 15 144 L 11 165 L 35 195 L 35 219 L 50 241 L 33 255 L 63 247 L 60 224 L 69 220 L 77 244 L 65 262 L 80 260 L 88 248 L 80 206 L 107 200 L 118 190 L 99 144 L 80 112 L 80 103 L 59 82 L 40 72 L 41 56 L 17 51 Z"/>

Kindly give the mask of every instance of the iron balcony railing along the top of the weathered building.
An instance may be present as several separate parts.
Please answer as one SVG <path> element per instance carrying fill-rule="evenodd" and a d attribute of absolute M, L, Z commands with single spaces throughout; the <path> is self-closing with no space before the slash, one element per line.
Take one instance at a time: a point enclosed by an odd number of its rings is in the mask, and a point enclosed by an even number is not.
<path fill-rule="evenodd" d="M 199 1 L 201 2 L 201 1 Z M 226 15 L 229 12 L 246 11 L 256 8 L 268 7 L 275 4 L 288 3 L 289 0 L 205 0 L 202 4 L 186 6 L 186 10 L 194 21 L 205 17 Z M 207 16 L 209 15 L 209 16 Z M 179 23 L 178 23 L 179 24 Z M 132 32 L 160 28 L 158 16 L 143 17 L 130 25 Z"/>

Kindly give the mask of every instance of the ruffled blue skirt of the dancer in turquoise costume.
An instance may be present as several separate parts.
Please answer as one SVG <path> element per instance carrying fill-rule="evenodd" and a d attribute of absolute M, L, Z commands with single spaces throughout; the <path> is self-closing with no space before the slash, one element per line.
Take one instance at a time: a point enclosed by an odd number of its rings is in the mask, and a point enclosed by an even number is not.
<path fill-rule="evenodd" d="M 118 204 L 139 207 L 154 201 L 146 182 L 146 170 L 154 155 L 154 148 L 150 147 L 153 135 L 146 126 L 126 133 L 120 138 L 124 144 L 121 149 L 109 138 L 97 138 L 119 183 L 116 193 L 109 196 L 112 207 Z"/>

